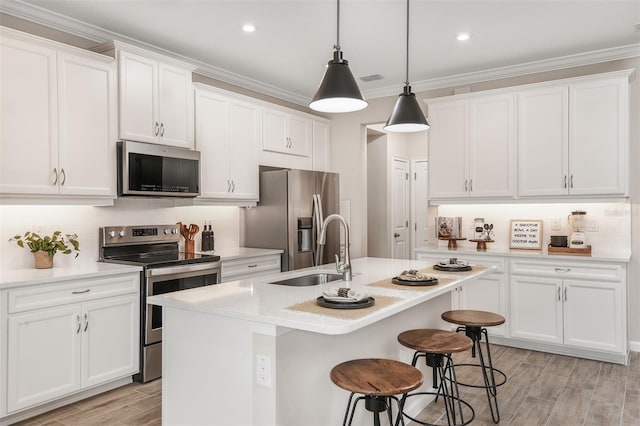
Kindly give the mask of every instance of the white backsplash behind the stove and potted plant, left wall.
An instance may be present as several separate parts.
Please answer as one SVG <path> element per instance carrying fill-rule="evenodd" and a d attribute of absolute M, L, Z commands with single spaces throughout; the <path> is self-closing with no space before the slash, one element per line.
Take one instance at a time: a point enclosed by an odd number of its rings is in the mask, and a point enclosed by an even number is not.
<path fill-rule="evenodd" d="M 95 262 L 98 259 L 98 228 L 105 225 L 173 224 L 178 221 L 195 223 L 201 229 L 211 220 L 216 249 L 238 247 L 238 207 L 168 206 L 158 199 L 116 200 L 115 206 L 0 206 L 0 269 L 33 267 L 29 249 L 20 248 L 9 238 L 25 231 L 50 234 L 60 230 L 78 234 L 80 255 L 58 254 L 54 265 Z M 200 249 L 200 234 L 196 239 Z"/>

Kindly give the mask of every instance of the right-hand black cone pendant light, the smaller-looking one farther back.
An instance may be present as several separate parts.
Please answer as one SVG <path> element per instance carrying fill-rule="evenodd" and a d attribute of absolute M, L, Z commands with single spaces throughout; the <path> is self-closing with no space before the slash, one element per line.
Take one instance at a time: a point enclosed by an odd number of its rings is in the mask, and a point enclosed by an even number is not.
<path fill-rule="evenodd" d="M 404 90 L 393 107 L 393 112 L 384 126 L 387 132 L 421 132 L 429 128 L 429 123 L 420 108 L 415 93 L 409 85 L 409 0 L 407 0 L 407 64 Z"/>

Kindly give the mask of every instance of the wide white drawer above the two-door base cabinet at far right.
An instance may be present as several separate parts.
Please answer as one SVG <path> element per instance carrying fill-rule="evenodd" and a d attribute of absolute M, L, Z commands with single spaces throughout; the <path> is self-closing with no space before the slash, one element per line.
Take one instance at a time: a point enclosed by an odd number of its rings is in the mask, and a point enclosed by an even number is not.
<path fill-rule="evenodd" d="M 512 260 L 511 273 L 535 275 L 553 278 L 579 278 L 586 280 L 618 281 L 625 280 L 622 265 L 607 263 L 576 263 L 576 262 L 540 262 L 526 260 Z"/>

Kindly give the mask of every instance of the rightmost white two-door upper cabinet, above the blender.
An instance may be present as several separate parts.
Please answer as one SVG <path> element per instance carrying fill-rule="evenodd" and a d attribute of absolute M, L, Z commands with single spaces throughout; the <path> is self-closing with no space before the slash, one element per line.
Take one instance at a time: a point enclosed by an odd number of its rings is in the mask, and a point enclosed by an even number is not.
<path fill-rule="evenodd" d="M 628 75 L 517 96 L 520 196 L 626 195 Z"/>

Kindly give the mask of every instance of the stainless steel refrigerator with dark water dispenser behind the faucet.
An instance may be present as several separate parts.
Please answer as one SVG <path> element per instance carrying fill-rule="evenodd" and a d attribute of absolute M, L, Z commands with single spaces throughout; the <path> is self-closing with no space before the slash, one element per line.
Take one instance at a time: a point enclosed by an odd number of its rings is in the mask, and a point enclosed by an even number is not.
<path fill-rule="evenodd" d="M 316 240 L 324 218 L 339 213 L 338 185 L 337 173 L 261 170 L 260 201 L 244 214 L 244 245 L 284 250 L 283 271 L 335 262 L 339 223 L 329 225 L 321 252 Z"/>

